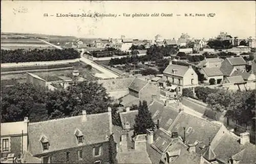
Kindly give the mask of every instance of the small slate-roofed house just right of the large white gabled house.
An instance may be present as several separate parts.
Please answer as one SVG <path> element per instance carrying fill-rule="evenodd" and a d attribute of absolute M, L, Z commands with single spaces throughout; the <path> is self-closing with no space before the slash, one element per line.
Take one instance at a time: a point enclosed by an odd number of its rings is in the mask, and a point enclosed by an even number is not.
<path fill-rule="evenodd" d="M 210 79 L 215 79 L 216 84 L 220 84 L 223 81 L 223 73 L 218 67 L 203 67 L 199 72 L 204 75 L 208 83 Z"/>

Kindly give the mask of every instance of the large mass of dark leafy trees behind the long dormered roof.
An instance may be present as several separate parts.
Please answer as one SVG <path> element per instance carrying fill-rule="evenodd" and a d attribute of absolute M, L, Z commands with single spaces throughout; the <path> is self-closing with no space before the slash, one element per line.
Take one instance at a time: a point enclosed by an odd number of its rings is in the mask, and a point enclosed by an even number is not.
<path fill-rule="evenodd" d="M 105 88 L 97 82 L 73 83 L 66 90 L 47 90 L 30 83 L 1 89 L 1 122 L 31 122 L 63 118 L 81 114 L 106 112 L 112 102 Z"/>

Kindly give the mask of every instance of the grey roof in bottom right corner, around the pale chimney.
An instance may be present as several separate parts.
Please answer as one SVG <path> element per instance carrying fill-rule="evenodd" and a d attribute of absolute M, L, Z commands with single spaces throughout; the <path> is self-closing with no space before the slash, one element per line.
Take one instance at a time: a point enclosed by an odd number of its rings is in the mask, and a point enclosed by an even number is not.
<path fill-rule="evenodd" d="M 256 146 L 253 144 L 240 144 L 240 138 L 238 136 L 233 136 L 228 133 L 224 134 L 216 148 L 214 149 L 216 158 L 228 161 L 229 157 L 233 156 L 234 158 L 242 157 L 240 163 L 253 163 L 256 160 Z M 252 161 L 252 162 L 251 162 Z"/>

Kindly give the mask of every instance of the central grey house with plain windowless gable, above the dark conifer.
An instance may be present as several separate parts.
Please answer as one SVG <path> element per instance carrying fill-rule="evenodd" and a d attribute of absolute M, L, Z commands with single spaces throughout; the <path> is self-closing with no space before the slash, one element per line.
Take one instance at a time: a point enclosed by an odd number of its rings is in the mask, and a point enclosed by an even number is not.
<path fill-rule="evenodd" d="M 152 84 L 150 81 L 144 81 L 135 78 L 130 84 L 129 95 L 121 98 L 120 104 L 124 107 L 129 107 L 132 104 L 138 105 L 139 101 L 147 101 L 147 104 L 152 102 L 153 97 L 159 98 L 160 89 L 158 86 Z"/>

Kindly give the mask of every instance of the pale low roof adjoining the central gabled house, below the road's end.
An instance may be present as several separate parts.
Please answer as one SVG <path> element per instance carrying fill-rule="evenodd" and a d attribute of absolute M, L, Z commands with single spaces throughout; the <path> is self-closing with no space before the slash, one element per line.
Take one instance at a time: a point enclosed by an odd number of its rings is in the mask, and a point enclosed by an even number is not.
<path fill-rule="evenodd" d="M 107 90 L 124 90 L 128 89 L 134 78 L 122 78 L 122 79 L 110 79 L 110 80 L 98 80 L 99 84 Z"/>

